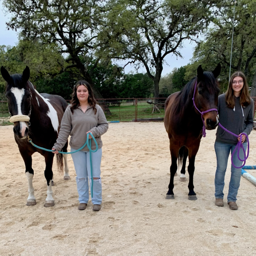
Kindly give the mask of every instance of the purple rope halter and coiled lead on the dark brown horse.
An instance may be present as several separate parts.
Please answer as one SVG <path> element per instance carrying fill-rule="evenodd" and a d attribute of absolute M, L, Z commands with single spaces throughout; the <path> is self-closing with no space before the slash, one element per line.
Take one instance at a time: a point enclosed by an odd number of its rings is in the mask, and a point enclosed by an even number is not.
<path fill-rule="evenodd" d="M 201 114 L 201 118 L 202 118 L 202 121 L 203 121 L 203 137 L 205 137 L 205 136 L 206 136 L 206 131 L 205 131 L 205 130 L 206 130 L 206 127 L 205 127 L 205 124 L 204 124 L 203 115 L 206 114 L 206 113 L 208 113 L 208 112 L 210 112 L 210 111 L 216 111 L 217 114 L 218 114 L 218 110 L 217 110 L 217 109 L 210 109 L 210 110 L 206 110 L 206 111 L 201 112 L 201 111 L 197 108 L 197 106 L 196 106 L 196 104 L 195 104 L 196 88 L 197 88 L 197 81 L 196 81 L 195 90 L 194 90 L 194 96 L 193 96 L 192 100 L 193 100 L 193 103 L 194 103 L 195 108 L 196 108 L 197 111 Z M 238 135 L 236 135 L 236 134 L 234 134 L 234 133 L 228 131 L 228 130 L 227 130 L 225 127 L 223 127 L 220 123 L 219 123 L 219 126 L 220 126 L 225 132 L 227 132 L 227 133 L 229 133 L 229 134 L 231 134 L 231 135 L 233 135 L 233 136 L 236 136 L 236 138 L 238 138 Z M 245 149 L 244 149 L 244 146 L 243 146 L 243 143 L 242 143 L 242 135 L 243 135 L 243 134 L 245 135 L 245 137 L 246 137 L 246 139 L 247 139 L 247 142 L 248 142 L 248 145 L 247 145 L 247 149 L 248 149 L 248 150 L 247 150 L 247 156 L 246 156 Z M 242 150 L 243 150 L 243 152 L 244 152 L 244 159 L 240 159 L 240 156 L 239 156 L 239 155 L 240 155 L 240 148 L 242 148 Z M 233 163 L 233 155 L 234 155 L 234 153 L 235 153 L 236 151 L 238 151 L 238 159 L 239 159 L 241 162 L 244 162 L 244 164 L 243 164 L 242 166 L 240 166 L 240 167 L 237 167 L 237 166 L 234 165 L 234 163 Z M 246 133 L 241 133 L 241 134 L 240 134 L 240 141 L 238 142 L 236 148 L 234 148 L 234 151 L 233 151 L 233 153 L 232 153 L 232 155 L 231 155 L 231 164 L 234 166 L 234 168 L 237 168 L 237 169 L 242 168 L 242 167 L 245 165 L 248 156 L 249 156 L 249 139 L 248 139 L 248 136 L 247 136 Z"/>

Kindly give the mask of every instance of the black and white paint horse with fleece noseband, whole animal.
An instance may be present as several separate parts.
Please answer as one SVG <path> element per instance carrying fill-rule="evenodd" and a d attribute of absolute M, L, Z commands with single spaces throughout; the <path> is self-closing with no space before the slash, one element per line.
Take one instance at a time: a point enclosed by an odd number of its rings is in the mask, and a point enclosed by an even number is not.
<path fill-rule="evenodd" d="M 8 108 L 12 116 L 14 138 L 18 145 L 20 155 L 22 155 L 26 166 L 26 176 L 29 183 L 29 197 L 27 205 L 35 205 L 32 169 L 32 155 L 35 152 L 45 157 L 46 169 L 45 178 L 47 180 L 46 207 L 54 206 L 52 196 L 52 164 L 54 154 L 39 150 L 28 142 L 28 136 L 32 141 L 41 147 L 51 149 L 58 137 L 60 122 L 68 104 L 65 99 L 57 95 L 39 94 L 29 81 L 30 70 L 28 67 L 23 74 L 9 75 L 8 71 L 2 66 L 1 74 L 7 81 L 6 96 L 8 98 Z M 62 151 L 67 152 L 68 141 Z M 64 179 L 69 180 L 69 168 L 67 165 L 67 155 L 65 160 Z M 62 154 L 57 155 L 58 169 L 63 170 Z"/>

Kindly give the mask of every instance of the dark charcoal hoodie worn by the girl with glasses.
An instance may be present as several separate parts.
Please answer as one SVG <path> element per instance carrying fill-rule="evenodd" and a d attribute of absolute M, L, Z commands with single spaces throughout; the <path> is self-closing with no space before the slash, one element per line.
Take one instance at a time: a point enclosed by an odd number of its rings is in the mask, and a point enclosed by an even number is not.
<path fill-rule="evenodd" d="M 251 99 L 251 103 L 245 108 L 240 104 L 240 97 L 234 97 L 234 109 L 227 107 L 225 100 L 225 94 L 219 95 L 218 98 L 218 112 L 220 123 L 230 132 L 239 135 L 240 133 L 250 134 L 253 129 L 253 111 L 254 102 Z M 218 126 L 216 133 L 216 141 L 229 144 L 237 144 L 238 138 L 225 132 L 220 126 Z M 246 141 L 246 140 L 245 140 Z"/>

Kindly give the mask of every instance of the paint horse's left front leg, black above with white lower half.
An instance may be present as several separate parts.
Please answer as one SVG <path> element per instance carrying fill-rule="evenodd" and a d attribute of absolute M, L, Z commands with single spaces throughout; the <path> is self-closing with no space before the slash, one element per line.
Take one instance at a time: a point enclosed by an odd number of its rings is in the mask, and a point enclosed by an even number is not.
<path fill-rule="evenodd" d="M 20 155 L 22 155 L 22 158 L 25 162 L 25 166 L 26 166 L 25 174 L 27 176 L 28 184 L 29 184 L 29 189 L 28 189 L 29 196 L 27 199 L 27 205 L 28 206 L 36 205 L 36 200 L 34 196 L 35 189 L 33 187 L 34 170 L 32 169 L 32 156 L 28 155 L 24 150 L 20 150 L 19 152 L 20 152 Z"/>

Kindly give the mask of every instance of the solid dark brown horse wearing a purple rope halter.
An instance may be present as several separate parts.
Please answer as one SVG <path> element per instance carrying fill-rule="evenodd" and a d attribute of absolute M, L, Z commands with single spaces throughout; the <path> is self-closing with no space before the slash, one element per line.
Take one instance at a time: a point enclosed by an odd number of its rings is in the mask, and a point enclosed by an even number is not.
<path fill-rule="evenodd" d="M 174 199 L 173 189 L 174 176 L 177 172 L 177 160 L 179 160 L 179 163 L 182 162 L 180 180 L 185 180 L 185 164 L 188 157 L 188 199 L 197 200 L 193 176 L 195 159 L 202 138 L 203 122 L 201 114 L 196 110 L 192 99 L 196 86 L 195 104 L 200 112 L 217 109 L 220 90 L 216 78 L 220 71 L 220 65 L 213 72 L 204 72 L 200 65 L 197 69 L 197 77 L 188 82 L 182 91 L 170 95 L 165 101 L 164 126 L 168 133 L 170 155 L 172 157 L 170 183 L 166 199 Z M 204 114 L 203 121 L 207 130 L 215 129 L 219 122 L 217 112 L 211 111 Z"/>

